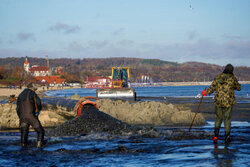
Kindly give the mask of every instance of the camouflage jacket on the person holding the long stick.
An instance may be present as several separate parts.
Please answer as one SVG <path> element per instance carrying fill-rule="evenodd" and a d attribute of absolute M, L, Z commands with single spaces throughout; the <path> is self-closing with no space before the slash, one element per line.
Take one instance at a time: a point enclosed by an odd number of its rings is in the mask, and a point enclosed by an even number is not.
<path fill-rule="evenodd" d="M 241 90 L 241 85 L 236 77 L 233 74 L 221 73 L 215 77 L 206 93 L 215 92 L 214 103 L 216 106 L 232 107 L 235 104 L 235 89 Z"/>

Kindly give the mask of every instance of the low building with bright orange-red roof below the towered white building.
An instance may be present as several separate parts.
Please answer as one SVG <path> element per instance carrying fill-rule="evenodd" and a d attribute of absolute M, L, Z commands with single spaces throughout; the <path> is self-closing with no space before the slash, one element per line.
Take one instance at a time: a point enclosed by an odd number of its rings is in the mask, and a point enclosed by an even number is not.
<path fill-rule="evenodd" d="M 49 84 L 50 86 L 63 86 L 65 84 L 65 79 L 60 78 L 60 76 L 36 76 L 37 81 L 43 84 Z"/>

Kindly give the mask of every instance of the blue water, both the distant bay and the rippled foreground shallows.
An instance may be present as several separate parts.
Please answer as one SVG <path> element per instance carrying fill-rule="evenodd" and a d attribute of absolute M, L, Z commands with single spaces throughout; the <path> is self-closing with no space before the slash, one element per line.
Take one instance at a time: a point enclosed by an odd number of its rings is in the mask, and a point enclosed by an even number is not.
<path fill-rule="evenodd" d="M 205 86 L 135 87 L 139 100 L 200 97 Z M 68 89 L 46 92 L 49 96 L 95 96 L 95 89 Z M 236 91 L 237 103 L 249 102 L 250 85 Z M 213 95 L 208 100 L 213 100 Z M 170 127 L 154 127 L 171 129 Z M 180 127 L 186 130 L 185 127 Z M 194 131 L 212 133 L 214 121 L 194 127 Z M 30 132 L 30 145 L 19 145 L 20 133 L 0 132 L 0 166 L 250 166 L 250 122 L 232 122 L 232 141 L 225 144 L 223 136 L 218 144 L 208 139 L 169 140 L 168 138 L 118 137 L 101 134 L 75 137 L 55 137 L 46 140 L 43 148 L 36 148 L 36 134 Z M 224 134 L 222 124 L 221 134 Z"/>

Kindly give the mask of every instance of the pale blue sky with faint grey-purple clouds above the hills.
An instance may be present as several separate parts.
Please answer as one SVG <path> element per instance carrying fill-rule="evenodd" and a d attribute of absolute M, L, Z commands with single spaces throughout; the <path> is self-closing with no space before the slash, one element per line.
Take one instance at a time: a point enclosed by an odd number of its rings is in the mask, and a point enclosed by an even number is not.
<path fill-rule="evenodd" d="M 0 57 L 250 66 L 250 0 L 0 0 Z"/>

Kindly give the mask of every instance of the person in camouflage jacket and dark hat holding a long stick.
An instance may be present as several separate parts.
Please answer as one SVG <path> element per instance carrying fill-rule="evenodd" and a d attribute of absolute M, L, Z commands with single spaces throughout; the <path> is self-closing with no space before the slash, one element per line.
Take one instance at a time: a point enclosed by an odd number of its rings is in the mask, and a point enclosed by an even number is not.
<path fill-rule="evenodd" d="M 240 91 L 241 85 L 233 74 L 234 67 L 231 64 L 226 65 L 224 71 L 217 75 L 207 91 L 203 95 L 215 92 L 215 129 L 214 143 L 217 143 L 221 123 L 224 119 L 225 142 L 230 142 L 230 129 L 232 120 L 232 108 L 235 105 L 235 92 Z"/>

